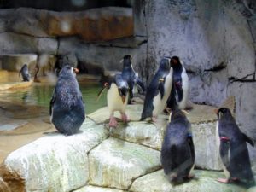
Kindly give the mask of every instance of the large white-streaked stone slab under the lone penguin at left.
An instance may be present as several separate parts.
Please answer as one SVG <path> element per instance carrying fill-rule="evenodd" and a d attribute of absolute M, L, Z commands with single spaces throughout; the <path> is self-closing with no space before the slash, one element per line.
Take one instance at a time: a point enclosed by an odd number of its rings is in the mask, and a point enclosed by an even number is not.
<path fill-rule="evenodd" d="M 0 172 L 0 177 L 7 179 L 12 189 L 12 184 L 17 183 L 15 177 L 9 177 L 15 173 L 26 191 L 71 191 L 86 185 L 87 153 L 108 137 L 108 131 L 90 119 L 85 120 L 80 130 L 70 137 L 50 132 L 15 150 L 4 160 L 6 171 Z"/>

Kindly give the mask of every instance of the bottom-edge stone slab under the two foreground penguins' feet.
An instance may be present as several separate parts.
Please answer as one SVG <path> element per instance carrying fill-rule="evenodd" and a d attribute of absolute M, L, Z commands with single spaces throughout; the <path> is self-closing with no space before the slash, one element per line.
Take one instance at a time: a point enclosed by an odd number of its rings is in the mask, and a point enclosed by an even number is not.
<path fill-rule="evenodd" d="M 224 177 L 222 172 L 209 172 L 194 170 L 195 178 L 188 183 L 173 186 L 167 180 L 163 170 L 137 178 L 131 185 L 132 192 L 241 192 L 246 189 L 235 184 L 225 184 L 216 181 L 218 177 Z"/>

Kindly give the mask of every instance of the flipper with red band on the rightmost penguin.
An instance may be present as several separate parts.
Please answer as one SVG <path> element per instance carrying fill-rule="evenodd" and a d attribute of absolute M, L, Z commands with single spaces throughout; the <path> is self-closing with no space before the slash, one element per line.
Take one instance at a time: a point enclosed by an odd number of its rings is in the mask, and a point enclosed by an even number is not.
<path fill-rule="evenodd" d="M 224 166 L 227 170 L 229 170 L 228 167 L 230 167 L 230 140 L 227 137 L 220 138 L 219 152 Z"/>

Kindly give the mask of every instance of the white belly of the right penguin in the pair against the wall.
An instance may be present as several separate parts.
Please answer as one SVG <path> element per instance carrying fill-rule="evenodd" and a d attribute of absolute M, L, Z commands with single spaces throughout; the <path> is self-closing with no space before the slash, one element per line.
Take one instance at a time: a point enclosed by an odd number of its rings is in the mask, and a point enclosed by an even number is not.
<path fill-rule="evenodd" d="M 183 99 L 181 102 L 178 102 L 178 108 L 184 109 L 186 108 L 188 98 L 189 98 L 189 77 L 186 73 L 186 69 L 183 67 L 183 73 L 182 73 L 182 79 L 183 79 Z"/>

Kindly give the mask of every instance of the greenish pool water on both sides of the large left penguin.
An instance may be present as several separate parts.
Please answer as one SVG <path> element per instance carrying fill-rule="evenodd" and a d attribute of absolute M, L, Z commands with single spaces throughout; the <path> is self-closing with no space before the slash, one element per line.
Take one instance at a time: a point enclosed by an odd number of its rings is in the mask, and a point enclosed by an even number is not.
<path fill-rule="evenodd" d="M 85 102 L 86 114 L 96 111 L 98 108 L 107 106 L 106 92 L 96 102 L 96 95 L 101 90 L 100 84 L 79 84 Z M 17 102 L 24 105 L 38 105 L 49 108 L 49 102 L 55 84 L 33 84 L 31 87 L 20 90 L 0 91 L 0 101 Z"/>

